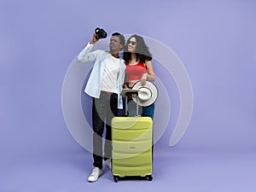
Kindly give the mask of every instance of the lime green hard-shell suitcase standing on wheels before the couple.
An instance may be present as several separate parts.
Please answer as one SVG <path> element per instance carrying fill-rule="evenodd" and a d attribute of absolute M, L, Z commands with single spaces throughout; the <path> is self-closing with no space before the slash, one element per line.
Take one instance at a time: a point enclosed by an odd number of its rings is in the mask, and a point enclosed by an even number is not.
<path fill-rule="evenodd" d="M 127 96 L 125 101 L 127 113 Z M 138 107 L 137 107 L 138 109 Z M 137 110 L 138 113 L 138 110 Z M 112 119 L 114 182 L 120 177 L 152 177 L 153 120 L 150 117 L 114 117 Z"/>

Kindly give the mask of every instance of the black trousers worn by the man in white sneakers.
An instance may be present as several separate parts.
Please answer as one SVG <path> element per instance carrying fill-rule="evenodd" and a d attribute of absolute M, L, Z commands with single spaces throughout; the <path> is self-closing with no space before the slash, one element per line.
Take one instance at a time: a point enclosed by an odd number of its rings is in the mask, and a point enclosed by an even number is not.
<path fill-rule="evenodd" d="M 102 158 L 112 157 L 111 120 L 118 116 L 118 96 L 102 91 L 100 98 L 93 98 L 92 126 L 93 126 L 93 165 L 102 169 Z M 104 154 L 102 154 L 103 132 L 106 125 Z"/>

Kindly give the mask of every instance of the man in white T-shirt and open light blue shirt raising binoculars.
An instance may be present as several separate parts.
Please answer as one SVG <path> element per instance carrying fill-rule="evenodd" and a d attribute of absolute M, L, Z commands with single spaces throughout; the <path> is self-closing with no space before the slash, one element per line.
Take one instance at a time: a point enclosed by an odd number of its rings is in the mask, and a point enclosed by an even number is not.
<path fill-rule="evenodd" d="M 109 51 L 90 50 L 99 40 L 96 33 L 89 44 L 79 53 L 81 62 L 93 62 L 94 66 L 84 92 L 92 96 L 92 126 L 93 126 L 93 171 L 88 177 L 89 182 L 95 182 L 102 175 L 102 157 L 105 165 L 111 169 L 112 136 L 111 120 L 118 115 L 118 108 L 123 108 L 122 86 L 125 79 L 125 61 L 119 58 L 119 51 L 125 47 L 125 38 L 119 32 L 114 32 L 109 42 Z M 102 134 L 106 124 L 104 154 L 102 153 Z"/>

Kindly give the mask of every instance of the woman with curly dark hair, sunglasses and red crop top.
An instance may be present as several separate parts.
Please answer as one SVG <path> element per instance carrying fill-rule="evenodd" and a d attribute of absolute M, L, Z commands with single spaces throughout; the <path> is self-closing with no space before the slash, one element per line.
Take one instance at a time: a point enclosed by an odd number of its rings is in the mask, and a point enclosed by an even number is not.
<path fill-rule="evenodd" d="M 125 44 L 123 58 L 126 65 L 125 74 L 127 80 L 127 83 L 124 85 L 125 89 L 131 89 L 138 81 L 141 81 L 141 84 L 144 86 L 147 80 L 155 80 L 154 69 L 151 63 L 152 55 L 150 54 L 143 37 L 134 34 L 131 38 L 128 38 Z M 148 107 L 142 108 L 143 117 L 151 117 L 154 119 L 154 103 Z M 133 115 L 131 114 L 130 108 L 128 111 L 130 112 L 130 115 Z"/>

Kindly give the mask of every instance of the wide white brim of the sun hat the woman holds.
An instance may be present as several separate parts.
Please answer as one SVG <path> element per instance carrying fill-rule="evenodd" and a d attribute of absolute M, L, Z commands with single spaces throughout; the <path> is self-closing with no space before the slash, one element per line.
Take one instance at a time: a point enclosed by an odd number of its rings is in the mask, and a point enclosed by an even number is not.
<path fill-rule="evenodd" d="M 150 81 L 146 81 L 146 84 L 144 86 L 140 81 L 138 81 L 136 84 L 132 86 L 132 90 L 140 90 L 140 88 L 142 87 L 146 87 L 148 88 L 148 90 L 151 91 L 152 93 L 151 97 L 147 101 L 140 100 L 139 98 L 136 98 L 136 97 L 132 97 L 132 99 L 134 102 L 138 102 L 138 105 L 147 107 L 156 101 L 158 97 L 158 90 L 157 90 L 157 87 Z"/>

